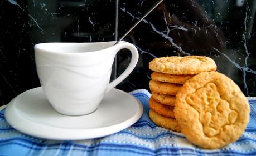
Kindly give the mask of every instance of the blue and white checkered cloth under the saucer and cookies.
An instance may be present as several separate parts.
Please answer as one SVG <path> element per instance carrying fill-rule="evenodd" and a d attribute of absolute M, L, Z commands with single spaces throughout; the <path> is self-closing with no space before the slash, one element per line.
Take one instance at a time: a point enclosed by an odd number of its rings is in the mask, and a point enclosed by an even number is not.
<path fill-rule="evenodd" d="M 131 127 L 107 137 L 81 140 L 46 140 L 13 129 L 0 112 L 0 155 L 256 155 L 256 98 L 249 99 L 250 122 L 244 134 L 232 144 L 205 150 L 192 145 L 180 133 L 157 127 L 148 117 L 145 89 L 131 92 L 144 107 L 141 119 Z"/>

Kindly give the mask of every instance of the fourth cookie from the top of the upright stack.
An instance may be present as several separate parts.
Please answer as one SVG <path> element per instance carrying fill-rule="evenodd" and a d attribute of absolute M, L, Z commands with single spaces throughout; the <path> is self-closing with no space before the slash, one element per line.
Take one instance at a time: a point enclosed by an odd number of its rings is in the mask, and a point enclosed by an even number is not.
<path fill-rule="evenodd" d="M 175 106 L 176 97 L 173 95 L 166 95 L 166 94 L 152 92 L 152 97 L 154 98 L 154 100 L 156 100 L 161 104 Z"/>

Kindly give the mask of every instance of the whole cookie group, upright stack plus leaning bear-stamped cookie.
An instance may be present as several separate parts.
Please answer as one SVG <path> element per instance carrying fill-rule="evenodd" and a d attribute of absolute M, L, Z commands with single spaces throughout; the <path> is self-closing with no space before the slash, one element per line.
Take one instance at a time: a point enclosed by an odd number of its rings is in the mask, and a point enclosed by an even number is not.
<path fill-rule="evenodd" d="M 238 85 L 216 72 L 209 57 L 162 57 L 149 63 L 149 117 L 202 148 L 235 142 L 249 122 L 250 106 Z"/>

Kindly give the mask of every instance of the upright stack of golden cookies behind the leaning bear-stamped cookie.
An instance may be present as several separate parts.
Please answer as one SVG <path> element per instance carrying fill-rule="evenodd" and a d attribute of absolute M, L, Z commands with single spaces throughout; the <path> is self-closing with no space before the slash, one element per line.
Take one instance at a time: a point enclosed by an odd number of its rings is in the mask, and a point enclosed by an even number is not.
<path fill-rule="evenodd" d="M 157 125 L 180 132 L 173 109 L 176 94 L 182 85 L 195 74 L 215 71 L 215 62 L 208 57 L 162 57 L 153 59 L 149 63 L 152 80 L 149 88 L 152 97 L 149 99 L 149 117 Z"/>

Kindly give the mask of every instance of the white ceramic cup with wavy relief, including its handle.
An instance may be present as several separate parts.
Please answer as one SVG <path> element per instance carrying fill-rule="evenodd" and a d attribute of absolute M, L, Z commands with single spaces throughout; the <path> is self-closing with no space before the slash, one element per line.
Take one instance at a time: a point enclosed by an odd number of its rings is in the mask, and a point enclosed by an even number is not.
<path fill-rule="evenodd" d="M 133 44 L 120 42 L 40 43 L 35 45 L 37 74 L 46 98 L 65 115 L 94 112 L 104 95 L 122 82 L 138 62 Z M 129 66 L 109 83 L 115 54 L 129 49 Z"/>

